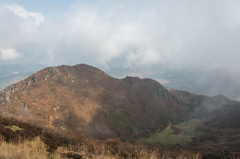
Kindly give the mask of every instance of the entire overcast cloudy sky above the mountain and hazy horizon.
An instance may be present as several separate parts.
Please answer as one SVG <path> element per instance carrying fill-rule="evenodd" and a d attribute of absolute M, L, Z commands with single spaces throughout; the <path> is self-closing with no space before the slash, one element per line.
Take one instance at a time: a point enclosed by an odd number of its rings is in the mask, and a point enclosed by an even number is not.
<path fill-rule="evenodd" d="M 239 0 L 1 0 L 0 64 L 239 73 L 239 8 Z"/>

